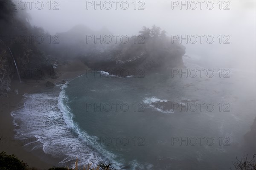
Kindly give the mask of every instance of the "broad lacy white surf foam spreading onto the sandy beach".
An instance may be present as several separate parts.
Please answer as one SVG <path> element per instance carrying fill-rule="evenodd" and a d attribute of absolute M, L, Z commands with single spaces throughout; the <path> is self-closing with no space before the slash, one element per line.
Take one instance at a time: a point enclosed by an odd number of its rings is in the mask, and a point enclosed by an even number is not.
<path fill-rule="evenodd" d="M 73 160 L 79 158 L 80 165 L 111 162 L 116 168 L 122 167 L 121 163 L 114 161 L 116 155 L 96 142 L 96 136 L 89 136 L 80 130 L 76 122 L 73 122 L 73 114 L 66 105 L 68 101 L 64 91 L 66 87 L 67 85 L 61 86 L 59 95 L 58 92 L 24 94 L 23 96 L 26 97 L 24 105 L 30 104 L 32 107 L 12 113 L 17 127 L 15 137 L 38 138 L 43 144 L 45 153 L 64 158 L 60 162 L 62 165 L 73 165 Z M 38 147 L 40 146 L 35 145 L 29 149 L 34 150 Z M 71 162 L 67 163 L 68 161 Z"/>

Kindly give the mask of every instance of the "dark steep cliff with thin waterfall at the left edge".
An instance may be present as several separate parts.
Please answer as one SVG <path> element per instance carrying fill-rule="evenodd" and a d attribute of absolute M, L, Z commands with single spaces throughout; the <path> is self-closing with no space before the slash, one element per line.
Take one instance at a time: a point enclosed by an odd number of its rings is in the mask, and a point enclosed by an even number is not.
<path fill-rule="evenodd" d="M 27 39 L 28 35 L 43 34 L 42 29 L 30 26 L 26 10 L 18 11 L 4 3 L 0 2 L 0 95 L 10 91 L 12 79 L 19 79 L 18 73 L 21 80 L 55 76 L 52 64 L 41 51 L 39 43 L 36 43 L 35 38 Z M 14 3 L 12 5 L 15 6 Z M 35 31 L 38 33 L 35 34 Z M 26 40 L 17 37 L 25 37 Z M 15 68 L 13 58 L 19 71 Z"/>

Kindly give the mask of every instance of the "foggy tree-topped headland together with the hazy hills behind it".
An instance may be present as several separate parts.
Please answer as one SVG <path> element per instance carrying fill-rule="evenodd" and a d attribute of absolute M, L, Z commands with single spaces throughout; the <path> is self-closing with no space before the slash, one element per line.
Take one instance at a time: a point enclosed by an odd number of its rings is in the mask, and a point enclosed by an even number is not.
<path fill-rule="evenodd" d="M 121 41 L 122 35 L 117 35 L 119 37 L 115 40 L 108 30 L 92 31 L 83 25 L 58 35 L 60 44 L 55 45 L 58 56 L 79 57 L 85 65 L 94 70 L 126 69 L 133 73 L 134 69 L 142 69 L 145 73 L 150 73 L 183 66 L 185 47 L 172 42 L 166 32 L 163 30 L 160 33 L 160 27 L 156 26 L 151 29 L 143 27 L 136 37 L 127 36 L 126 42 Z M 88 35 L 92 36 L 92 40 L 87 39 Z M 105 35 L 112 37 L 112 41 L 107 43 L 104 38 L 100 38 Z M 99 40 L 95 41 L 95 36 Z"/>

